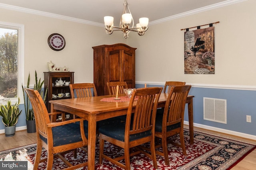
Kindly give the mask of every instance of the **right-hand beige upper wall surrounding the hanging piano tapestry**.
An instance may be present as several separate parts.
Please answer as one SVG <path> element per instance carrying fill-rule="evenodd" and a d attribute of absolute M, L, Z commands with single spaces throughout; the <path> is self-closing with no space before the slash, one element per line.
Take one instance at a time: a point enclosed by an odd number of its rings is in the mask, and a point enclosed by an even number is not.
<path fill-rule="evenodd" d="M 256 1 L 248 0 L 192 16 L 152 25 L 133 39 L 136 81 L 185 81 L 192 84 L 255 86 Z M 184 31 L 213 23 L 215 74 L 184 74 Z M 202 27 L 203 28 L 203 27 Z"/>

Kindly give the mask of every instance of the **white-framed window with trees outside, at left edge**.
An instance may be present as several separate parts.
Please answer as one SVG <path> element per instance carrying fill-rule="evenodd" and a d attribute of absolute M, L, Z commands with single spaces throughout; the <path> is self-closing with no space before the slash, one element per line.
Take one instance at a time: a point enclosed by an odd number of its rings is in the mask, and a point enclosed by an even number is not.
<path fill-rule="evenodd" d="M 0 22 L 0 103 L 23 101 L 24 25 Z"/>

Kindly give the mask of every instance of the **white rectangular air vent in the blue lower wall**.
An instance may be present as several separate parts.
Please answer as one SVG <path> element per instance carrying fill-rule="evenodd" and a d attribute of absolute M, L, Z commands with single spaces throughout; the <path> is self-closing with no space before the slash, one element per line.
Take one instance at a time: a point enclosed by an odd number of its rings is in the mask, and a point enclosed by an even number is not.
<path fill-rule="evenodd" d="M 204 98 L 204 120 L 227 123 L 227 101 Z"/>

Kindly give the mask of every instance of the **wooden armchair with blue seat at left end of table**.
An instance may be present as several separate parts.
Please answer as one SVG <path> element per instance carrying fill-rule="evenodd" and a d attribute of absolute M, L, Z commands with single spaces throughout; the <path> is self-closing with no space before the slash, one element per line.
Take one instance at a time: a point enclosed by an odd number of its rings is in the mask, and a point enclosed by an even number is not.
<path fill-rule="evenodd" d="M 68 121 L 50 122 L 52 115 L 61 114 L 62 112 L 48 113 L 42 97 L 37 90 L 25 88 L 26 94 L 32 104 L 36 121 L 36 158 L 34 170 L 38 169 L 38 164 L 47 160 L 47 170 L 52 170 L 53 159 L 60 158 L 68 169 L 77 169 L 88 166 L 88 162 L 72 165 L 64 153 L 88 145 L 88 129 L 84 128 L 83 119 L 71 119 Z M 75 122 L 80 122 L 77 124 Z M 47 150 L 47 158 L 40 159 L 42 147 Z M 76 155 L 74 154 L 76 158 Z"/>

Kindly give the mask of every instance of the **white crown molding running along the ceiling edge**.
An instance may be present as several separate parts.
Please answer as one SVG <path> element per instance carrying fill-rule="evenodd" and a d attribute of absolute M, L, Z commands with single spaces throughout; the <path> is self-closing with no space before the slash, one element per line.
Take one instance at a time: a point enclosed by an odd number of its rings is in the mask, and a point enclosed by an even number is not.
<path fill-rule="evenodd" d="M 173 15 L 173 16 L 170 16 L 170 17 L 162 18 L 160 20 L 151 21 L 151 22 L 149 22 L 149 25 L 154 25 L 154 24 L 158 24 L 158 23 L 162 23 L 162 22 L 166 22 L 166 21 L 170 21 L 170 20 L 175 20 L 175 19 L 178 19 L 178 18 L 190 16 L 190 15 L 197 14 L 197 13 L 200 13 L 200 12 L 212 10 L 212 9 L 215 9 L 215 8 L 221 8 L 223 6 L 228 6 L 228 5 L 232 5 L 232 4 L 236 4 L 236 3 L 244 2 L 244 1 L 247 1 L 247 0 L 226 0 L 224 2 L 219 2 L 217 4 L 205 6 L 205 7 L 198 8 L 198 9 L 195 9 L 195 10 L 191 10 L 191 11 L 188 11 L 188 12 L 183 12 L 181 14 L 177 14 L 177 15 Z M 8 9 L 8 10 L 14 10 L 14 11 L 18 11 L 18 12 L 26 12 L 26 13 L 29 13 L 29 14 L 46 16 L 46 17 L 56 18 L 56 19 L 60 19 L 60 20 L 67 20 L 67 21 L 73 21 L 73 22 L 78 22 L 78 23 L 85 23 L 85 24 L 88 24 L 88 25 L 104 27 L 103 23 L 81 20 L 81 19 L 78 19 L 78 18 L 72 18 L 72 17 L 68 17 L 68 16 L 62 16 L 62 15 L 58 15 L 58 14 L 52 14 L 52 13 L 42 12 L 42 11 L 37 11 L 37 10 L 31 10 L 31 9 L 28 9 L 28 8 L 22 8 L 22 7 L 12 6 L 12 5 L 2 4 L 2 3 L 0 3 L 0 8 L 4 8 L 4 9 Z"/>

